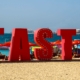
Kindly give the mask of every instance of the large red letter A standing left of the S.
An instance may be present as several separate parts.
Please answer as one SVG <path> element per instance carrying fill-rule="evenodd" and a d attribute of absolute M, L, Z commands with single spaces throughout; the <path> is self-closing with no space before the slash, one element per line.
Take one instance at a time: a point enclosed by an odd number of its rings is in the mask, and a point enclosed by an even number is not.
<path fill-rule="evenodd" d="M 30 60 L 27 29 L 15 28 L 12 32 L 9 61 Z"/>

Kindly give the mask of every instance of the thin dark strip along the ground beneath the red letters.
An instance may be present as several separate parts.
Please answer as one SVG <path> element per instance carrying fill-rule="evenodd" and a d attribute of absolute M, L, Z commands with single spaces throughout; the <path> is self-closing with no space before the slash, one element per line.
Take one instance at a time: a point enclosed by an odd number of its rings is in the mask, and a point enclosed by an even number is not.
<path fill-rule="evenodd" d="M 80 58 L 74 58 L 72 60 L 61 60 L 61 59 L 52 59 L 52 60 L 43 60 L 43 61 L 39 61 L 36 59 L 33 59 L 31 61 L 0 61 L 0 63 L 42 63 L 42 62 L 80 62 Z"/>

